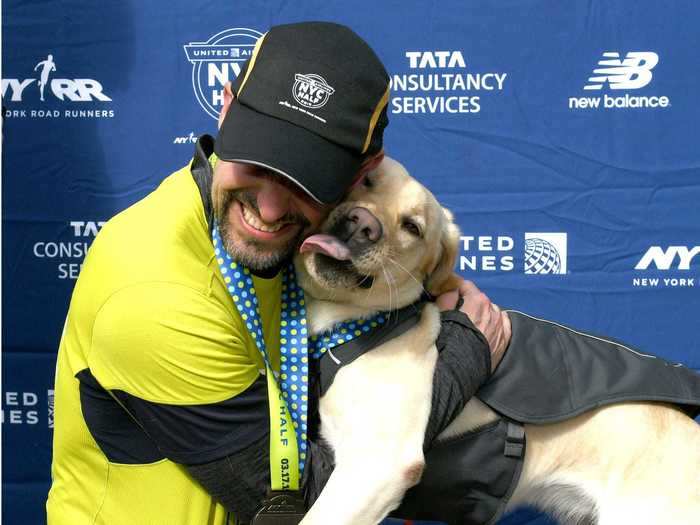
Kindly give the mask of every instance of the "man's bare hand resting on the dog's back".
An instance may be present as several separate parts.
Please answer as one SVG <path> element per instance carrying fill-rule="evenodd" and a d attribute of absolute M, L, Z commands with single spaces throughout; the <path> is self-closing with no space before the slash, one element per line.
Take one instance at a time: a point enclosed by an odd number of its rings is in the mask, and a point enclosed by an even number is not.
<path fill-rule="evenodd" d="M 489 343 L 493 372 L 503 359 L 503 354 L 510 343 L 510 318 L 471 281 L 462 281 L 457 290 L 440 295 L 435 304 L 440 310 L 454 310 L 460 298 L 462 304 L 459 310 L 469 317 Z"/>

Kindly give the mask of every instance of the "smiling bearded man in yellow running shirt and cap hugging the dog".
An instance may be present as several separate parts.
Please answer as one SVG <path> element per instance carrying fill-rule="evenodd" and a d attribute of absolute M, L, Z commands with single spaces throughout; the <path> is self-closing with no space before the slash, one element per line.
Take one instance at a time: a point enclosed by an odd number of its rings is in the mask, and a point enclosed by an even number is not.
<path fill-rule="evenodd" d="M 261 372 L 284 357 L 285 272 L 381 161 L 388 93 L 381 62 L 349 29 L 274 27 L 226 86 L 215 148 L 200 138 L 189 166 L 104 226 L 59 350 L 50 525 L 252 518 L 269 484 Z M 442 352 L 430 436 L 486 378 L 486 341 L 496 363 L 510 336 L 473 285 L 461 292 L 486 340 L 466 316 L 447 316 L 461 343 Z M 313 461 L 305 440 L 299 458 Z"/>

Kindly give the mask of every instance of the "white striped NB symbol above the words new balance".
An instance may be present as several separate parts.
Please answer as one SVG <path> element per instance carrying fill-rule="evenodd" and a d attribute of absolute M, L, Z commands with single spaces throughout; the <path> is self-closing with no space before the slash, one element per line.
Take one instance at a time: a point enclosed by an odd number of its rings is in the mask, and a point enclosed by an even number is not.
<path fill-rule="evenodd" d="M 659 55 L 651 51 L 630 51 L 624 60 L 620 53 L 605 52 L 583 89 L 601 89 L 607 82 L 610 89 L 639 89 L 651 82 L 651 70 L 659 63 Z"/>

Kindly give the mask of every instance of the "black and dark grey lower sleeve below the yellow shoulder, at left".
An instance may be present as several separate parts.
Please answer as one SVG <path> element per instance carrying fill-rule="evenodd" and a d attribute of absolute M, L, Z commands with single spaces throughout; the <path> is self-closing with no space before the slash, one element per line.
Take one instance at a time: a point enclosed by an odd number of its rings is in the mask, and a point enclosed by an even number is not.
<path fill-rule="evenodd" d="M 89 369 L 76 374 L 86 425 L 117 463 L 168 458 L 184 465 L 237 518 L 250 520 L 269 485 L 267 382 L 260 376 L 235 397 L 204 405 L 169 405 L 108 392 Z"/>

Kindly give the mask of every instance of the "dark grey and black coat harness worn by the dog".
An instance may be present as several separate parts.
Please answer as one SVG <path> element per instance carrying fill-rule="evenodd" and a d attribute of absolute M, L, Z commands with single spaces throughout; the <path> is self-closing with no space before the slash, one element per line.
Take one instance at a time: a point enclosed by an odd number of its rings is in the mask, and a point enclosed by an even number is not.
<path fill-rule="evenodd" d="M 424 303 L 400 310 L 383 326 L 320 360 L 324 394 L 340 367 L 415 326 Z M 556 423 L 626 401 L 664 402 L 700 414 L 700 374 L 609 338 L 521 312 L 509 312 L 511 343 L 477 397 L 497 420 L 438 441 L 426 469 L 392 516 L 449 525 L 493 524 L 517 486 L 526 450 L 525 424 Z M 312 463 L 332 468 L 328 451 L 312 447 Z M 318 475 L 316 465 L 315 475 Z"/>

